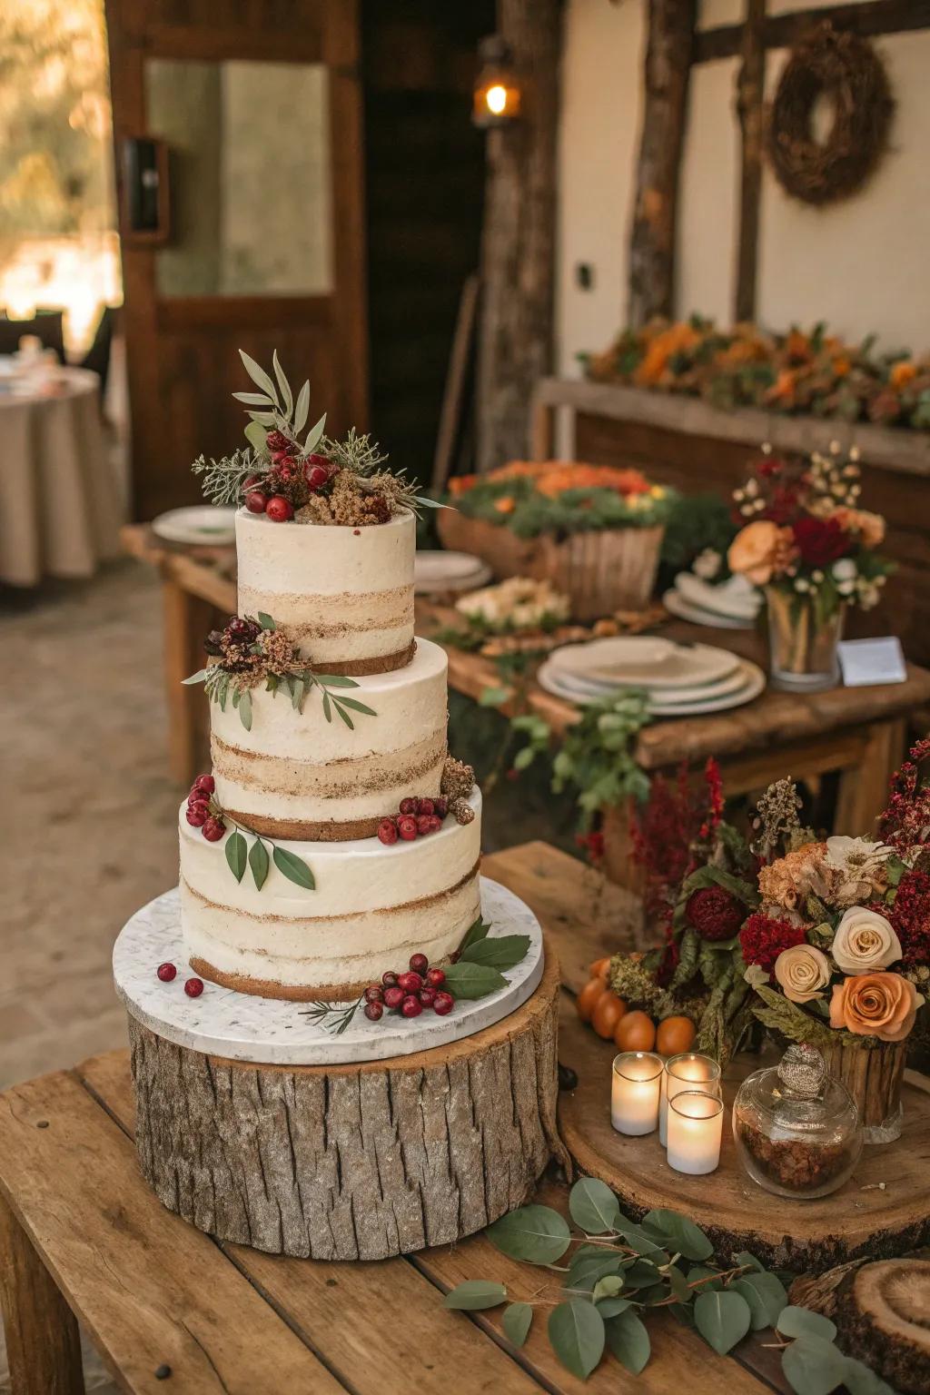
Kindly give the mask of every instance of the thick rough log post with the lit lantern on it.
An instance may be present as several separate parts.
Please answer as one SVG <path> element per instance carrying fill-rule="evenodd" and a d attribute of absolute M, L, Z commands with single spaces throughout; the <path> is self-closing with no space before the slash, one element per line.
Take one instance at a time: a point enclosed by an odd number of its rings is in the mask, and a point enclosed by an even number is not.
<path fill-rule="evenodd" d="M 523 86 L 520 119 L 488 133 L 481 321 L 478 470 L 526 456 L 528 403 L 552 365 L 559 0 L 499 0 Z"/>

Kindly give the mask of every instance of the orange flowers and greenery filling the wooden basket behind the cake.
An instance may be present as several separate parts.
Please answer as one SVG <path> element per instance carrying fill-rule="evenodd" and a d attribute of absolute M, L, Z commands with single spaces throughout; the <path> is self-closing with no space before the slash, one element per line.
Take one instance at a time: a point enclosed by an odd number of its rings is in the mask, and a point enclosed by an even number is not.
<path fill-rule="evenodd" d="M 639 470 L 566 460 L 512 460 L 488 474 L 457 476 L 449 491 L 460 513 L 526 538 L 657 527 L 678 499 L 673 490 L 650 484 Z"/>

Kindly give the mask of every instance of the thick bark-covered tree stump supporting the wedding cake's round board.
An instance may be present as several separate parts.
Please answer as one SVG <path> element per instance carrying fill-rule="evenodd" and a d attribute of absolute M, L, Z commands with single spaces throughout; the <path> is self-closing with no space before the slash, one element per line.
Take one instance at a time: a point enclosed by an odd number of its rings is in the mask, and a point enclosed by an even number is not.
<path fill-rule="evenodd" d="M 383 1062 L 252 1064 L 130 1016 L 137 1145 L 163 1204 L 222 1240 L 383 1260 L 484 1229 L 567 1156 L 556 1113 L 559 965 L 514 1013 Z"/>

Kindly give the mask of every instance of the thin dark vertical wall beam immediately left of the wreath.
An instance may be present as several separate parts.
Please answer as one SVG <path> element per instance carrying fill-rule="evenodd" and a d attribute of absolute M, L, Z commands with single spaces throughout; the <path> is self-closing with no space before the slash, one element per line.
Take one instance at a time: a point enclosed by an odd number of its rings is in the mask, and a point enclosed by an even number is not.
<path fill-rule="evenodd" d="M 743 24 L 743 61 L 736 80 L 736 114 L 742 135 L 739 187 L 739 246 L 736 250 L 736 322 L 756 318 L 756 265 L 759 261 L 759 201 L 763 187 L 763 99 L 765 0 L 749 0 Z"/>

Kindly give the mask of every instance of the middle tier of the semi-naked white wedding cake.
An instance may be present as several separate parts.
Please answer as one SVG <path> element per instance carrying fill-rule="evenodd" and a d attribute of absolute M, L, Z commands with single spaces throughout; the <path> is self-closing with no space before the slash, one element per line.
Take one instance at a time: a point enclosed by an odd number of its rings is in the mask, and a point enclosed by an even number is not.
<path fill-rule="evenodd" d="M 308 527 L 307 531 L 311 531 Z M 418 640 L 402 670 L 340 688 L 375 713 L 354 730 L 326 721 L 314 689 L 296 711 L 286 692 L 252 689 L 245 731 L 227 703 L 211 703 L 216 797 L 248 827 L 284 838 L 364 838 L 411 794 L 439 794 L 446 759 L 446 653 Z"/>

